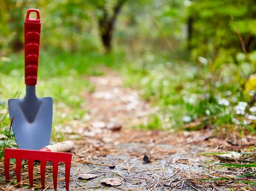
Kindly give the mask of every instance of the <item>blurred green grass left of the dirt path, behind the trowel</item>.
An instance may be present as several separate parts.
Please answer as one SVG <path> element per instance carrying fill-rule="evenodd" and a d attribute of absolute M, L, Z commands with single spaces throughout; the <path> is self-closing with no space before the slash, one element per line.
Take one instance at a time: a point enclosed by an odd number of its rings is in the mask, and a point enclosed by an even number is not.
<path fill-rule="evenodd" d="M 24 55 L 11 54 L 7 57 L 10 62 L 0 61 L 0 134 L 9 134 L 10 119 L 7 101 L 10 98 L 22 98 L 25 95 L 24 83 Z M 53 98 L 52 126 L 65 126 L 72 120 L 81 120 L 85 111 L 82 105 L 86 103 L 83 91 L 93 93 L 92 86 L 85 76 L 104 75 L 104 66 L 112 66 L 122 59 L 120 54 L 101 55 L 64 54 L 41 51 L 38 66 L 38 83 L 36 94 L 38 97 Z M 70 110 L 62 115 L 64 110 Z M 52 129 L 52 139 L 63 140 L 63 134 Z M 0 140 L 0 147 L 16 147 L 11 131 L 8 143 Z"/>

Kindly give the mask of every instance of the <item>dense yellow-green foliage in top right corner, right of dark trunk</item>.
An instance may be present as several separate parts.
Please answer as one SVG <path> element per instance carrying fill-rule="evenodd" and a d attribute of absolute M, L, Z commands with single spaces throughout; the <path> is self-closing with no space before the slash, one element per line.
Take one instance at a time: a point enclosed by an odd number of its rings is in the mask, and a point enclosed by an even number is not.
<path fill-rule="evenodd" d="M 244 0 L 193 0 L 189 6 L 192 22 L 190 39 L 192 58 L 198 55 L 211 59 L 219 68 L 224 62 L 238 63 L 242 51 L 236 24 L 247 52 L 255 50 L 256 3 Z M 231 60 L 230 60 L 231 59 Z M 213 67 L 212 69 L 216 69 Z"/>

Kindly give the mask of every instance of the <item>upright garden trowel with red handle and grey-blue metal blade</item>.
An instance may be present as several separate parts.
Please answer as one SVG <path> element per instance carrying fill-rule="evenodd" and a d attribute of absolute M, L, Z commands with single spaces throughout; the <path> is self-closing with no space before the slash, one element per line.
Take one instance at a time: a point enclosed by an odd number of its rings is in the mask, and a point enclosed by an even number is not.
<path fill-rule="evenodd" d="M 37 18 L 29 18 L 30 12 Z M 49 145 L 52 130 L 52 98 L 38 98 L 35 85 L 38 75 L 38 56 L 41 34 L 41 21 L 37 9 L 29 9 L 24 22 L 25 35 L 25 84 L 23 99 L 8 101 L 10 119 L 18 148 L 39 150 Z"/>

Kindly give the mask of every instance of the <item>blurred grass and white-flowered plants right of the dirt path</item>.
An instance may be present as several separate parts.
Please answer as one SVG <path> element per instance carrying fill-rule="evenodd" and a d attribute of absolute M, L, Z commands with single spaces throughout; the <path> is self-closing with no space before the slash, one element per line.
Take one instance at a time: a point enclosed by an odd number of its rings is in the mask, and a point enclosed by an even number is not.
<path fill-rule="evenodd" d="M 200 125 L 186 130 L 206 126 L 218 129 L 225 125 L 232 129 L 233 120 L 222 115 L 218 108 L 242 120 L 244 115 L 236 114 L 234 107 L 239 102 L 248 102 L 252 96 L 244 92 L 233 71 L 222 74 L 221 70 L 213 73 L 208 65 L 186 61 L 177 63 L 168 54 L 154 53 L 146 53 L 131 59 L 125 67 L 120 66 L 118 71 L 125 79 L 125 86 L 136 88 L 144 100 L 160 108 L 160 112 L 150 117 L 148 125 L 135 128 L 179 130 L 203 119 Z M 228 105 L 220 105 L 221 100 L 227 100 Z M 247 114 L 256 113 L 247 111 Z"/>

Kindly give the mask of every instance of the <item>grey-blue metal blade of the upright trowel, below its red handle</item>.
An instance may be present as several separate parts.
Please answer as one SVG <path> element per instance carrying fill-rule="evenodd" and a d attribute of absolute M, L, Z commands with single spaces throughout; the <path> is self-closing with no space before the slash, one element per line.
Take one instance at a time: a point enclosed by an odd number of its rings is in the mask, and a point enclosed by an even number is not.
<path fill-rule="evenodd" d="M 29 110 L 26 109 L 28 111 L 24 111 L 23 106 L 28 104 L 24 99 L 8 100 L 10 119 L 15 116 L 12 130 L 18 148 L 39 150 L 49 145 L 52 131 L 52 98 L 37 100 L 40 102 L 38 107 L 33 109 L 35 104 L 29 103 Z"/>

